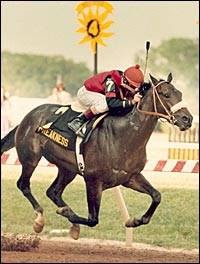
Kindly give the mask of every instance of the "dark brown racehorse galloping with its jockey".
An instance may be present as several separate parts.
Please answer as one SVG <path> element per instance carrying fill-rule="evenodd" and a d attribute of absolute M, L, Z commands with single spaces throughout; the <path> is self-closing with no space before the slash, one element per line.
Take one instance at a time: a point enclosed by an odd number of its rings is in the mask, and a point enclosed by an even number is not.
<path fill-rule="evenodd" d="M 189 129 L 193 119 L 182 103 L 182 93 L 171 84 L 171 81 L 171 73 L 167 81 L 157 80 L 150 75 L 150 88 L 137 108 L 123 116 L 105 117 L 84 145 L 83 178 L 87 193 L 87 218 L 77 215 L 62 199 L 65 187 L 80 174 L 75 152 L 35 132 L 39 126 L 47 123 L 59 105 L 38 106 L 2 139 L 1 154 L 16 147 L 22 165 L 17 187 L 37 214 L 33 225 L 36 232 L 42 231 L 44 217 L 43 208 L 31 193 L 30 178 L 42 156 L 58 168 L 57 177 L 46 194 L 58 207 L 56 212 L 72 223 L 71 235 L 74 239 L 79 237 L 79 224 L 90 227 L 98 224 L 102 192 L 119 185 L 146 193 L 152 198 L 150 207 L 141 218 L 127 220 L 126 227 L 149 223 L 161 201 L 161 194 L 141 173 L 146 163 L 146 144 L 159 118 L 178 126 L 181 131 Z"/>

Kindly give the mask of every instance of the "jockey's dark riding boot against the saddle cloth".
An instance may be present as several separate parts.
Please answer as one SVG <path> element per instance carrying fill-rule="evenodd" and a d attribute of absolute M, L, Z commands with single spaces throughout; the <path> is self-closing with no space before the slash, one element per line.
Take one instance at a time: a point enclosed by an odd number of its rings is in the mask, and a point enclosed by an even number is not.
<path fill-rule="evenodd" d="M 75 119 L 73 119 L 71 122 L 68 123 L 68 127 L 75 132 L 75 134 L 84 137 L 83 132 L 80 130 L 80 128 L 83 126 L 85 122 L 92 119 L 94 114 L 91 112 L 91 110 L 87 110 L 84 113 L 81 113 Z"/>

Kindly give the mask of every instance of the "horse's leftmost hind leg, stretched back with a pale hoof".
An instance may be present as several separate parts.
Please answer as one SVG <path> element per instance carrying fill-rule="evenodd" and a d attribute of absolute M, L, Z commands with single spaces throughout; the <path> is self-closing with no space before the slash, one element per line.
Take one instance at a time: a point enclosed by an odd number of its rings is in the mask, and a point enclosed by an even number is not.
<path fill-rule="evenodd" d="M 22 191 L 23 195 L 29 200 L 33 209 L 37 214 L 33 228 L 35 232 L 40 233 L 44 227 L 43 209 L 38 201 L 33 197 L 30 189 L 30 178 L 37 165 L 22 164 L 22 173 L 17 181 L 17 187 Z"/>

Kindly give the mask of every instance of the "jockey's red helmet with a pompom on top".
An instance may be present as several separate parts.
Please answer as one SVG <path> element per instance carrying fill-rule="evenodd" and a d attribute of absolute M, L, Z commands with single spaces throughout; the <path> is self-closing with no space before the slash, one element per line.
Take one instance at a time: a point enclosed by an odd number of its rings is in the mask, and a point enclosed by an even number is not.
<path fill-rule="evenodd" d="M 144 74 L 140 70 L 140 65 L 136 64 L 124 71 L 124 77 L 128 81 L 129 85 L 135 88 L 139 88 L 144 82 Z"/>

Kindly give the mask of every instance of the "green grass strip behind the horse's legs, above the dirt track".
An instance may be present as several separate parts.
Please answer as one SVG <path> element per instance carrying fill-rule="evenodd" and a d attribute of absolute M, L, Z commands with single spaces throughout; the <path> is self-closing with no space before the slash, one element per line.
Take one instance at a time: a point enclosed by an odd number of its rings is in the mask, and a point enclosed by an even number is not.
<path fill-rule="evenodd" d="M 57 207 L 47 198 L 50 182 L 32 183 L 32 193 L 44 208 L 46 225 L 41 234 L 52 229 L 68 229 L 71 224 L 56 214 Z M 2 180 L 2 230 L 12 233 L 33 233 L 35 214 L 28 200 L 16 187 L 15 180 Z M 151 222 L 133 230 L 133 241 L 162 247 L 198 248 L 198 191 L 159 189 L 162 201 Z M 130 216 L 141 216 L 149 207 L 147 195 L 122 188 Z M 81 216 L 87 217 L 85 186 L 71 183 L 64 200 Z M 100 221 L 96 227 L 81 226 L 81 237 L 125 241 L 125 227 L 112 190 L 103 193 Z"/>

